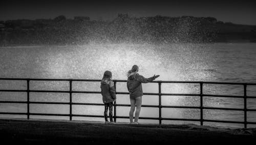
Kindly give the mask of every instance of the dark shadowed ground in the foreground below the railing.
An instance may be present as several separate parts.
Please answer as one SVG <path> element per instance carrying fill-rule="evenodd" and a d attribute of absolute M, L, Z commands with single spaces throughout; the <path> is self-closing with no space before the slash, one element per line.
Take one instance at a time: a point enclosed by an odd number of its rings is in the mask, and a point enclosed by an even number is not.
<path fill-rule="evenodd" d="M 0 136 L 1 144 L 251 144 L 256 128 L 0 119 Z"/>

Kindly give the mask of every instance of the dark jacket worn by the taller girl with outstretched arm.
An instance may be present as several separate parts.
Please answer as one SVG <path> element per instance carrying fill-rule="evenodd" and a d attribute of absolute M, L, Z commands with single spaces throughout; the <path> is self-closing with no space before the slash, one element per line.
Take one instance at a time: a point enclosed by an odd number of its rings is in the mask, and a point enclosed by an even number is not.
<path fill-rule="evenodd" d="M 143 96 L 143 91 L 142 91 L 142 85 L 141 83 L 147 83 L 153 81 L 155 78 L 150 77 L 150 78 L 145 78 L 142 75 L 135 74 L 127 79 L 127 89 L 130 93 L 130 98 L 137 98 L 140 96 Z"/>

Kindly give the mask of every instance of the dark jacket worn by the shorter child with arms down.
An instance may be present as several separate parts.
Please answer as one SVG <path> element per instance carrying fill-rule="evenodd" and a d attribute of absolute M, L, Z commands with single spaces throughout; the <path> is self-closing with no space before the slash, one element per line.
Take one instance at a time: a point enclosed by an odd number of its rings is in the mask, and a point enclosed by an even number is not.
<path fill-rule="evenodd" d="M 116 91 L 114 82 L 109 78 L 101 80 L 100 84 L 101 95 L 103 103 L 110 103 L 116 99 Z"/>

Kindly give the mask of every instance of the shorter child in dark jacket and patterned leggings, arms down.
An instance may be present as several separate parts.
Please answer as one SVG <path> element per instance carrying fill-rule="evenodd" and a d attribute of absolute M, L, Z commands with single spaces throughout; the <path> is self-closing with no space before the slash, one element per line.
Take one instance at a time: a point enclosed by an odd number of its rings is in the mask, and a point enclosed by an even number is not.
<path fill-rule="evenodd" d="M 101 89 L 102 101 L 105 106 L 105 110 L 104 110 L 105 123 L 109 123 L 108 109 L 109 109 L 110 123 L 114 123 L 113 122 L 113 102 L 116 100 L 116 91 L 115 91 L 114 82 L 112 80 L 111 71 L 104 72 L 104 75 L 100 84 L 100 89 Z"/>

